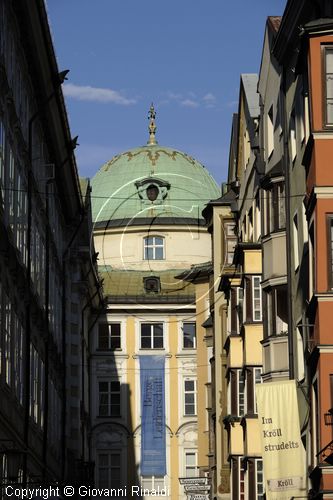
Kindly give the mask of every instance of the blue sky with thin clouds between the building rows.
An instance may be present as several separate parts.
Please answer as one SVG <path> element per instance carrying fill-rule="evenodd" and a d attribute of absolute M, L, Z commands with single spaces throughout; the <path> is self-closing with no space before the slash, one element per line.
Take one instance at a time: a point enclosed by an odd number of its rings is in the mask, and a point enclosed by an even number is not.
<path fill-rule="evenodd" d="M 257 73 L 268 15 L 285 0 L 47 0 L 80 175 L 148 140 L 226 179 L 241 73 Z"/>

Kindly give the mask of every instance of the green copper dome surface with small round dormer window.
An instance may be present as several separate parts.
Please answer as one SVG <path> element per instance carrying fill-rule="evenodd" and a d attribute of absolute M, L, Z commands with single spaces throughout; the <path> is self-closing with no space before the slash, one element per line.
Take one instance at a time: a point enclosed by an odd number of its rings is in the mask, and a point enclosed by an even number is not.
<path fill-rule="evenodd" d="M 199 162 L 156 143 L 112 158 L 91 187 L 94 222 L 114 221 L 112 225 L 147 218 L 198 220 L 206 203 L 220 196 L 213 177 Z"/>

